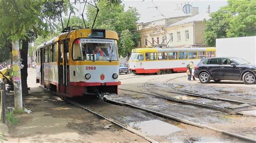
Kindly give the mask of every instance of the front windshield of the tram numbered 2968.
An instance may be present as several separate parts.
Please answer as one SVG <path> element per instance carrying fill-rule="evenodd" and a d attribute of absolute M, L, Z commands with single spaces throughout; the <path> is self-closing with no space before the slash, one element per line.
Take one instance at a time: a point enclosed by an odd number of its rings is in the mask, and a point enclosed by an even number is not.
<path fill-rule="evenodd" d="M 73 42 L 73 60 L 117 61 L 117 41 L 111 39 L 76 39 Z"/>

